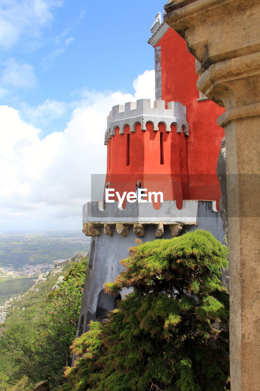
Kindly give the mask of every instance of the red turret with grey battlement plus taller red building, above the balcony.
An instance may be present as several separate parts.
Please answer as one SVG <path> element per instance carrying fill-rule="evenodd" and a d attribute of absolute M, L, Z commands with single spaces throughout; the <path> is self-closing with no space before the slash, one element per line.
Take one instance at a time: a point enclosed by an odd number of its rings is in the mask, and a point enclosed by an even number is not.
<path fill-rule="evenodd" d="M 199 93 L 195 59 L 185 41 L 161 22 L 160 13 L 151 31 L 156 100 L 112 108 L 105 133 L 106 187 L 130 192 L 140 179 L 150 191 L 176 200 L 178 208 L 192 199 L 218 206 L 216 165 L 224 131 L 216 118 L 223 108 Z"/>

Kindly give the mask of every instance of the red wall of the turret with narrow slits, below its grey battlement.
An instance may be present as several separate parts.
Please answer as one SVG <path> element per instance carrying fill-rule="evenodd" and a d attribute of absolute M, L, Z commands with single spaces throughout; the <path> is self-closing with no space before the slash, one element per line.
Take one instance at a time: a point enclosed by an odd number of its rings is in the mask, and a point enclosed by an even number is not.
<path fill-rule="evenodd" d="M 130 132 L 129 126 L 126 126 L 124 134 L 119 134 L 119 128 L 116 128 L 115 136 L 107 145 L 106 183 L 110 182 L 109 188 L 122 194 L 135 191 L 135 183 L 139 179 L 148 191 L 162 191 L 164 199 L 176 199 L 181 208 L 182 200 L 189 199 L 182 191 L 183 186 L 187 191 L 185 136 L 176 133 L 175 125 L 171 126 L 171 132 L 166 132 L 162 123 L 158 128 L 158 131 L 153 131 L 150 122 L 146 123 L 146 131 L 141 131 L 141 124 L 136 125 L 135 132 Z M 129 165 L 126 165 L 127 135 L 130 135 Z M 161 164 L 162 151 L 164 159 Z M 154 206 L 159 207 L 159 204 L 154 203 Z"/>

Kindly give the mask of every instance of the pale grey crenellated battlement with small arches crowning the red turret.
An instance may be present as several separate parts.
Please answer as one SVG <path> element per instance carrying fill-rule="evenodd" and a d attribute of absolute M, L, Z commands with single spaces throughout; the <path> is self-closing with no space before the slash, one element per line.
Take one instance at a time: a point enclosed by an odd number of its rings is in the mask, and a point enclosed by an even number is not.
<path fill-rule="evenodd" d="M 151 107 L 150 99 L 139 99 L 136 102 L 118 104 L 114 106 L 107 117 L 107 131 L 105 132 L 105 145 L 115 135 L 116 127 L 119 134 L 125 133 L 125 126 L 130 126 L 130 132 L 135 132 L 136 124 L 141 124 L 141 130 L 146 131 L 146 122 L 153 124 L 153 130 L 158 131 L 158 124 L 162 122 L 166 132 L 171 131 L 171 124 L 176 125 L 176 132 L 189 136 L 189 124 L 187 122 L 186 106 L 180 102 L 168 102 L 165 108 L 164 100 L 155 100 Z"/>

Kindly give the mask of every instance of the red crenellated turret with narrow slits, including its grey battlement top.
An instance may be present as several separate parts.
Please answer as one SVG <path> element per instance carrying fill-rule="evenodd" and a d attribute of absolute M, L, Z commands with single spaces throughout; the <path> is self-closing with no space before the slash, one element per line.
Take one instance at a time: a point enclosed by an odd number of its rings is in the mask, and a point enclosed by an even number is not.
<path fill-rule="evenodd" d="M 167 107 L 165 107 L 167 106 Z M 107 118 L 106 187 L 135 191 L 137 179 L 164 199 L 189 199 L 186 140 L 189 124 L 186 107 L 179 102 L 140 99 L 112 108 Z"/>

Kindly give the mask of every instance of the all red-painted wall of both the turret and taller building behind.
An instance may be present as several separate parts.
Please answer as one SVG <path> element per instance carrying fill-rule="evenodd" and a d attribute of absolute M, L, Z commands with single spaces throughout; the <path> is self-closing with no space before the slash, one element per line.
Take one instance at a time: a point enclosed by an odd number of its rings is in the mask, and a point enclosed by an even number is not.
<path fill-rule="evenodd" d="M 141 124 L 136 125 L 135 132 L 126 126 L 124 134 L 119 134 L 117 128 L 107 145 L 106 182 L 110 181 L 109 187 L 121 194 L 135 191 L 136 180 L 140 179 L 148 191 L 162 191 L 164 199 L 176 199 L 179 208 L 183 199 L 215 200 L 218 205 L 221 191 L 216 164 L 224 131 L 217 126 L 216 119 L 224 109 L 211 100 L 197 101 L 195 59 L 174 30 L 168 29 L 158 45 L 162 99 L 187 107 L 189 136 L 176 133 L 175 125 L 171 126 L 171 132 L 166 132 L 164 124 L 153 131 L 150 122 L 146 123 L 146 131 L 141 131 Z M 127 135 L 129 165 L 126 165 Z"/>

